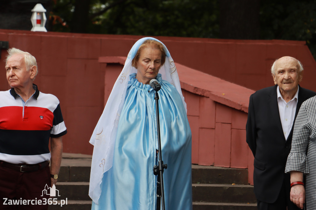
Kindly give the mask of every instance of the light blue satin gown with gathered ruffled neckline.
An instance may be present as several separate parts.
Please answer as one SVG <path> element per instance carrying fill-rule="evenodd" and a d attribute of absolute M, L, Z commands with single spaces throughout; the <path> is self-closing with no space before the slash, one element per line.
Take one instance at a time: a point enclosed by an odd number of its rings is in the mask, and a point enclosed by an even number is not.
<path fill-rule="evenodd" d="M 92 210 L 155 210 L 157 125 L 155 91 L 130 75 L 119 119 L 113 166 L 103 174 L 99 205 Z M 159 117 L 166 210 L 192 209 L 191 130 L 178 91 L 161 84 Z"/>

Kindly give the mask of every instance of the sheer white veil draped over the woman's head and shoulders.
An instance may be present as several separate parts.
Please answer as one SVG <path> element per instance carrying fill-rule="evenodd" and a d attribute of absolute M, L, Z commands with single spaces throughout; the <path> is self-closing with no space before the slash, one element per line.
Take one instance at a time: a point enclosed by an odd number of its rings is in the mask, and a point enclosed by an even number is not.
<path fill-rule="evenodd" d="M 158 39 L 145 37 L 139 39 L 133 45 L 127 55 L 123 70 L 113 86 L 103 113 L 97 125 L 95 126 L 93 134 L 89 141 L 91 144 L 94 145 L 90 174 L 89 196 L 96 204 L 98 204 L 98 200 L 101 194 L 100 184 L 102 181 L 103 173 L 112 167 L 116 131 L 119 122 L 119 116 L 125 102 L 126 87 L 128 81 L 130 80 L 129 75 L 131 73 L 137 73 L 137 69 L 135 67 L 132 67 L 131 65 L 132 59 L 135 57 L 140 45 L 143 44 L 143 42 L 147 39 L 154 39 L 163 44 Z M 166 52 L 166 61 L 164 65 L 160 67 L 159 73 L 161 73 L 162 79 L 167 80 L 169 83 L 176 87 L 182 98 L 182 102 L 186 111 L 186 104 L 184 102 L 184 97 L 182 96 L 177 69 L 166 46 L 164 44 L 163 46 Z"/>

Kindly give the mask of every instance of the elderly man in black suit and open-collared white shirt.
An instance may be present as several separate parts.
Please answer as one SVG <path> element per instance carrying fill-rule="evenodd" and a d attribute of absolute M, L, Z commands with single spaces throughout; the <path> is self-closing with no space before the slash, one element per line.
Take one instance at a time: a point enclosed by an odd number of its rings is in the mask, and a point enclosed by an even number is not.
<path fill-rule="evenodd" d="M 275 86 L 256 91 L 249 100 L 246 141 L 254 156 L 254 192 L 260 210 L 299 209 L 290 201 L 285 164 L 298 110 L 316 93 L 300 87 L 303 67 L 293 57 L 277 59 L 271 73 Z"/>

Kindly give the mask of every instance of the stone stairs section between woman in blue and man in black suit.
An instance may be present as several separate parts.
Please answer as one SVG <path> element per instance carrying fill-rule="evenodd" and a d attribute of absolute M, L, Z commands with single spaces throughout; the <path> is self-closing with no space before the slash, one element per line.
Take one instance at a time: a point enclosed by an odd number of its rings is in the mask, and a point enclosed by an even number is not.
<path fill-rule="evenodd" d="M 248 170 L 192 165 L 193 210 L 256 210 Z"/>

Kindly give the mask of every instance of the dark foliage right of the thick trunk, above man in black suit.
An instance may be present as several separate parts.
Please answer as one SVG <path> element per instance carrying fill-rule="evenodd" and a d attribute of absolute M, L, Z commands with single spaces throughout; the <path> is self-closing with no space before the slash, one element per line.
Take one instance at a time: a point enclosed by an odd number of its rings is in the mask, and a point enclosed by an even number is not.
<path fill-rule="evenodd" d="M 316 58 L 316 0 L 262 1 L 260 27 L 261 39 L 306 41 Z"/>

